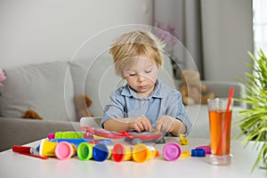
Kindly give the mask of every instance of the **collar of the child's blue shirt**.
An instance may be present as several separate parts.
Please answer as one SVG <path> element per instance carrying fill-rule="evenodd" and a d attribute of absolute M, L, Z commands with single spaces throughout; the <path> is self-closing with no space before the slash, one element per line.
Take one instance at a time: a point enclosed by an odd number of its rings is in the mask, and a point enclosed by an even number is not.
<path fill-rule="evenodd" d="M 160 92 L 162 87 L 162 82 L 160 80 L 157 79 L 156 81 L 156 87 L 154 89 L 154 91 L 152 93 L 150 93 L 150 96 L 147 97 L 146 99 L 150 99 L 150 98 L 162 98 L 162 94 Z M 140 99 L 140 97 L 138 96 L 137 93 L 134 92 L 134 90 L 128 85 L 126 84 L 125 87 L 123 88 L 122 95 L 125 95 L 127 97 L 134 97 L 136 99 Z"/>

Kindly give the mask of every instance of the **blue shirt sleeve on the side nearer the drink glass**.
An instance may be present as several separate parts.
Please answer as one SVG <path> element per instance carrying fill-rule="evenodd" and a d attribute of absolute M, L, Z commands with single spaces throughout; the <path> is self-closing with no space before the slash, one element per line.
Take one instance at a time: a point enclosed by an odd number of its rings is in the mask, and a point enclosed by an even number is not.
<path fill-rule="evenodd" d="M 184 109 L 181 93 L 176 92 L 172 96 L 170 96 L 166 107 L 166 115 L 180 119 L 186 127 L 185 135 L 190 133 L 192 124 L 190 122 L 188 114 Z"/>

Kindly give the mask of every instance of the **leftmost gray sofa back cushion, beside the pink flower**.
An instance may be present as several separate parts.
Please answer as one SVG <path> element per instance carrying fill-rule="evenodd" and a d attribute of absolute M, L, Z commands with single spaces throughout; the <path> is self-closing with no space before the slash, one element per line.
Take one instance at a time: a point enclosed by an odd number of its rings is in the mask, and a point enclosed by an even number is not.
<path fill-rule="evenodd" d="M 44 120 L 76 120 L 72 78 L 67 61 L 4 69 L 0 116 L 22 117 L 34 109 Z"/>

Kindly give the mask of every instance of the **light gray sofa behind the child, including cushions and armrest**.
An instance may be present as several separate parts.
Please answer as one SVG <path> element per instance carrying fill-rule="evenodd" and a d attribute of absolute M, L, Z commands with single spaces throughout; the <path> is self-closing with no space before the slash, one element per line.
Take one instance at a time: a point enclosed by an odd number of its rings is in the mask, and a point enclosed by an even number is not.
<path fill-rule="evenodd" d="M 56 131 L 79 131 L 74 96 L 87 94 L 93 101 L 90 125 L 99 125 L 102 108 L 111 93 L 125 81 L 116 77 L 111 56 L 72 61 L 53 61 L 4 69 L 7 79 L 0 86 L 0 151 L 44 138 Z M 171 63 L 165 61 L 159 79 L 177 88 Z M 216 96 L 226 97 L 231 85 L 235 97 L 240 86 L 236 83 L 204 82 Z M 193 122 L 192 137 L 208 137 L 206 106 L 187 107 Z M 27 109 L 34 109 L 43 120 L 21 118 Z M 198 116 L 201 116 L 198 117 Z M 205 130 L 205 132 L 203 132 Z"/>

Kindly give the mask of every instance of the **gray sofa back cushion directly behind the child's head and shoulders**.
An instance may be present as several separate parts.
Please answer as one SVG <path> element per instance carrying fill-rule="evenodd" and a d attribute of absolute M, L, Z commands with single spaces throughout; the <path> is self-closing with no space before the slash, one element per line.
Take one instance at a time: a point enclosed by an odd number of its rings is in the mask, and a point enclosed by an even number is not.
<path fill-rule="evenodd" d="M 103 108 L 109 101 L 109 94 L 118 86 L 125 85 L 125 80 L 115 75 L 111 55 L 70 61 L 70 71 L 75 93 L 85 93 L 92 99 L 93 105 L 90 110 L 94 117 L 103 115 Z M 159 71 L 158 78 L 165 85 L 175 88 L 173 69 L 168 58 Z"/>

